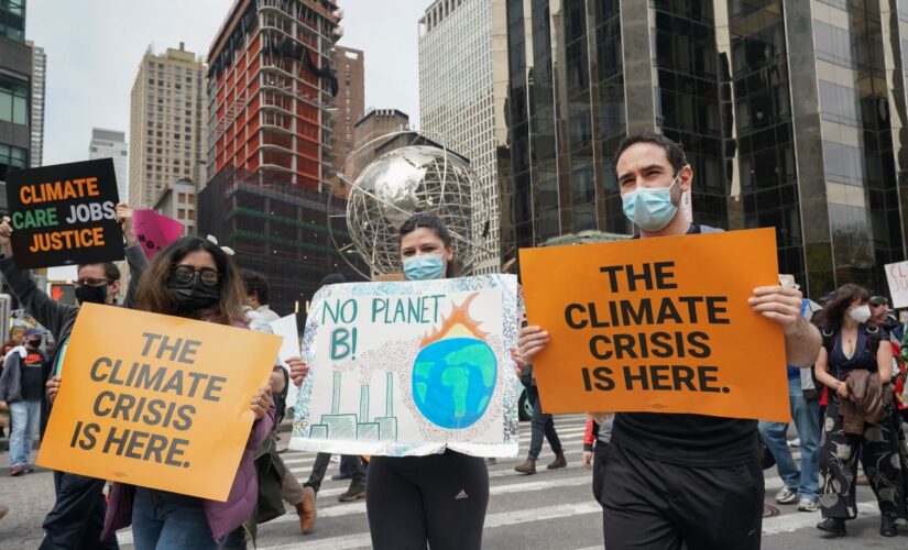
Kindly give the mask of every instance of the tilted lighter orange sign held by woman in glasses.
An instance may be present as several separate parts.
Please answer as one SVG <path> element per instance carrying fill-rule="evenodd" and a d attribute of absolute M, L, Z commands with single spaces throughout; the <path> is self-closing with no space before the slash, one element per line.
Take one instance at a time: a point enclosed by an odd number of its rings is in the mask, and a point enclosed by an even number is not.
<path fill-rule="evenodd" d="M 281 339 L 83 306 L 37 463 L 226 501 Z"/>

